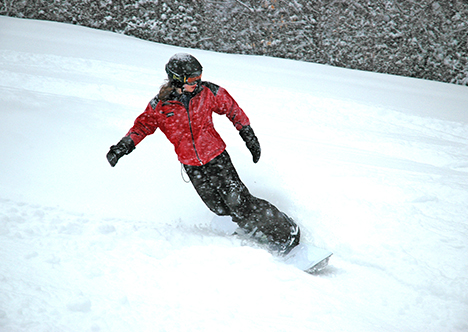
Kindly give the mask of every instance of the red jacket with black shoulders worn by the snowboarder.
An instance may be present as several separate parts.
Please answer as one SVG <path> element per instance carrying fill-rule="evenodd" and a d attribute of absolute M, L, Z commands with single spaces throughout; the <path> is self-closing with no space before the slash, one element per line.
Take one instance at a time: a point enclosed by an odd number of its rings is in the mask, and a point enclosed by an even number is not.
<path fill-rule="evenodd" d="M 213 126 L 212 114 L 224 114 L 237 130 L 250 124 L 249 118 L 229 93 L 215 84 L 201 82 L 198 92 L 191 98 L 188 109 L 175 98 L 150 101 L 127 133 L 135 145 L 157 128 L 174 145 L 179 161 L 199 166 L 220 155 L 226 144 Z"/>

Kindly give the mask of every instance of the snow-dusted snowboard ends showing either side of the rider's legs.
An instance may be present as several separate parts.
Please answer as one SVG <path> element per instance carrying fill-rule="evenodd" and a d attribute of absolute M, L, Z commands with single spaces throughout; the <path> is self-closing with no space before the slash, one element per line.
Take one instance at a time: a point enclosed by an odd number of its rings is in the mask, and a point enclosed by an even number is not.
<path fill-rule="evenodd" d="M 211 229 L 223 235 L 234 235 L 236 233 L 237 224 L 232 222 L 230 217 L 215 216 L 211 221 Z M 333 253 L 326 249 L 308 243 L 300 243 L 281 259 L 286 264 L 295 266 L 304 272 L 314 274 L 320 272 L 328 265 L 331 255 L 333 255 Z"/>

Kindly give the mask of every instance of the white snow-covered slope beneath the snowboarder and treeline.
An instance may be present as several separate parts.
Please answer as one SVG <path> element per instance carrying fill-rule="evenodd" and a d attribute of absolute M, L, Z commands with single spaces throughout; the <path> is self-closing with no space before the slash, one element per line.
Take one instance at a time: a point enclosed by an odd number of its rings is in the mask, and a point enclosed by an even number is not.
<path fill-rule="evenodd" d="M 188 52 L 250 191 L 334 252 L 308 275 L 210 228 L 157 131 L 105 155 Z M 0 17 L 0 331 L 468 331 L 467 87 Z"/>

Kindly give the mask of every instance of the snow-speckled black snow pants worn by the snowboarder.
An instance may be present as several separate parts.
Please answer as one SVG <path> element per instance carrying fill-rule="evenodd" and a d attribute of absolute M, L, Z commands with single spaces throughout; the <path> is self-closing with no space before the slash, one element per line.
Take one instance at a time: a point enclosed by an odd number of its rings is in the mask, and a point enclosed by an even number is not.
<path fill-rule="evenodd" d="M 227 151 L 205 165 L 184 168 L 198 195 L 217 215 L 231 216 L 245 233 L 280 254 L 299 244 L 296 223 L 273 204 L 250 194 Z"/>

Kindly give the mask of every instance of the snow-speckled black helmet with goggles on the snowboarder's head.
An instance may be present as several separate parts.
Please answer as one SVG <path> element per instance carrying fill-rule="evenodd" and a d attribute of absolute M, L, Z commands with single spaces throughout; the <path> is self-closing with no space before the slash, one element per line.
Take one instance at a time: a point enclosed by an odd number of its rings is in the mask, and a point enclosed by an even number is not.
<path fill-rule="evenodd" d="M 167 78 L 178 87 L 200 81 L 202 70 L 200 62 L 187 53 L 174 54 L 166 64 Z"/>

